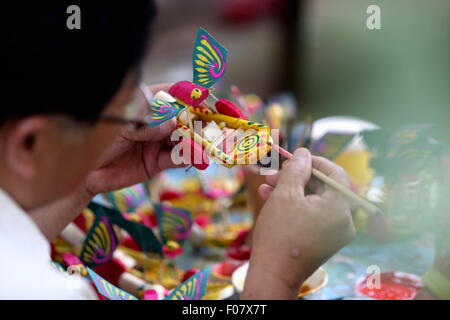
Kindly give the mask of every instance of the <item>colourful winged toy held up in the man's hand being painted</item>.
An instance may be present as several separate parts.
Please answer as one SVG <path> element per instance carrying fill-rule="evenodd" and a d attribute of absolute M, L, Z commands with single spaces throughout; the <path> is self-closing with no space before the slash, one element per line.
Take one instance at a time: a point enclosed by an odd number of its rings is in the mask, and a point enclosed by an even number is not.
<path fill-rule="evenodd" d="M 191 161 L 193 166 L 201 170 L 208 166 L 203 157 L 205 152 L 219 164 L 231 168 L 255 164 L 270 151 L 268 126 L 246 120 L 240 109 L 228 100 L 214 97 L 214 108 L 206 102 L 208 96 L 213 96 L 211 87 L 225 75 L 226 59 L 227 50 L 204 29 L 200 29 L 194 45 L 193 82 L 177 82 L 168 94 L 160 92 L 150 102 L 151 118 L 148 119 L 148 125 L 158 126 L 176 117 L 177 131 L 183 137 L 182 141 L 194 151 L 191 158 L 194 159 L 196 153 L 202 154 L 202 159 L 197 161 L 201 163 Z M 208 138 L 202 127 L 197 130 L 200 132 L 194 130 L 193 120 L 215 123 L 219 130 L 223 130 L 223 134 L 218 139 Z M 231 135 L 230 141 L 227 137 Z M 228 149 L 226 146 L 220 149 L 220 143 L 228 143 Z"/>

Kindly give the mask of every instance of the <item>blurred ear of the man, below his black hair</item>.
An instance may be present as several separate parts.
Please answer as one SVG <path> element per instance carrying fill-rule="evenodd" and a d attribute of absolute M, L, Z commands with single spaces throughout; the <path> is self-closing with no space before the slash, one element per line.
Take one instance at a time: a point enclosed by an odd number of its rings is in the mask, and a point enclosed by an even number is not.
<path fill-rule="evenodd" d="M 4 159 L 8 169 L 24 180 L 32 179 L 38 171 L 38 140 L 49 129 L 48 118 L 27 117 L 10 124 L 4 140 Z"/>

